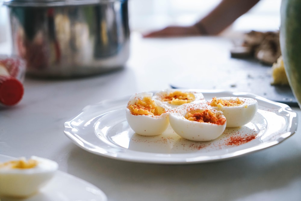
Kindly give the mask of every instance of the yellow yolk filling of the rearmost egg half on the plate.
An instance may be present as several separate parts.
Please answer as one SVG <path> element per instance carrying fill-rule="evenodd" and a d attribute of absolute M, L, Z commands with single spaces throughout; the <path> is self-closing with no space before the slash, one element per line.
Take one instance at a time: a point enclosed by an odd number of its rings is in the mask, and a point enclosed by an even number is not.
<path fill-rule="evenodd" d="M 163 97 L 163 101 L 166 101 L 172 105 L 182 105 L 184 103 L 190 103 L 195 100 L 192 93 L 185 93 L 181 91 L 174 91 Z"/>

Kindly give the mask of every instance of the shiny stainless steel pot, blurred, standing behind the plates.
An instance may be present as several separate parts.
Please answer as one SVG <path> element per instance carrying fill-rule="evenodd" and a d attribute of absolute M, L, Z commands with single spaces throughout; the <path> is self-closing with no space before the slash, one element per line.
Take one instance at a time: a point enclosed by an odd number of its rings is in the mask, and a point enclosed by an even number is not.
<path fill-rule="evenodd" d="M 127 0 L 11 0 L 13 53 L 38 77 L 75 77 L 129 58 Z"/>

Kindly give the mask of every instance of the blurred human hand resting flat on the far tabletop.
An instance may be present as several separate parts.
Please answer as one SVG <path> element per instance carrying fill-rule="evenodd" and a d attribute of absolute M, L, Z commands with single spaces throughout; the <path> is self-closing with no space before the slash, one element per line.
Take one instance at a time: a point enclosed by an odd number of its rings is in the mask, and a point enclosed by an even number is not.
<path fill-rule="evenodd" d="M 200 30 L 195 26 L 169 26 L 162 30 L 144 34 L 144 38 L 160 38 L 160 37 L 181 37 L 181 36 L 197 36 L 201 35 Z"/>

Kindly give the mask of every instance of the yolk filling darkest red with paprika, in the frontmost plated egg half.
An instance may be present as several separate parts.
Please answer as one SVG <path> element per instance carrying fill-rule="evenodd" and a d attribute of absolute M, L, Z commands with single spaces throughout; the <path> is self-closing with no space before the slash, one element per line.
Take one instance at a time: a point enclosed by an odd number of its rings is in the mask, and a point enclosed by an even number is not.
<path fill-rule="evenodd" d="M 205 122 L 205 123 L 212 123 L 223 125 L 226 123 L 225 118 L 220 118 L 220 114 L 214 113 L 208 109 L 206 110 L 195 110 L 189 111 L 186 113 L 185 118 L 189 121 L 198 121 L 198 122 Z"/>

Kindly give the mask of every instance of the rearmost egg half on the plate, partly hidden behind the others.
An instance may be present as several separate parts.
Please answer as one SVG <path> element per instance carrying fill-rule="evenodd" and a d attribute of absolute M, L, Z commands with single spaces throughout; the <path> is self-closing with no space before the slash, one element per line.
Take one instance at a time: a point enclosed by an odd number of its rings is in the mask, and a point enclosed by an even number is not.
<path fill-rule="evenodd" d="M 153 99 L 161 101 L 168 107 L 175 108 L 185 103 L 205 102 L 202 93 L 190 90 L 167 89 L 154 94 Z"/>

